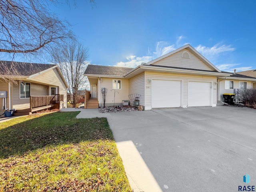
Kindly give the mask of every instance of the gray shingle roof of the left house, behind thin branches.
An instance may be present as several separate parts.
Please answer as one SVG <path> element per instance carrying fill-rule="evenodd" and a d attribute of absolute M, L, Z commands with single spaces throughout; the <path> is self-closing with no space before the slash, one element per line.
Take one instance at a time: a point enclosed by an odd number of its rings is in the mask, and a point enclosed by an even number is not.
<path fill-rule="evenodd" d="M 0 75 L 30 76 L 54 66 L 56 65 L 0 61 Z M 8 69 L 8 72 L 6 72 L 6 69 Z"/>

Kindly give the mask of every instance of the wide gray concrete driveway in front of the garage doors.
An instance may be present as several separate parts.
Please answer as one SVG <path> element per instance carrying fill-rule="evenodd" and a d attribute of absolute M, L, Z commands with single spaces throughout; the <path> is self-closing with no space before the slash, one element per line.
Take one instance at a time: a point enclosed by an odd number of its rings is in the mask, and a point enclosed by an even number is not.
<path fill-rule="evenodd" d="M 117 144 L 132 141 L 136 146 L 159 191 L 236 192 L 238 186 L 256 185 L 254 109 L 174 108 L 107 114 L 107 118 Z M 130 158 L 136 167 L 140 157 Z M 135 169 L 141 173 L 140 166 Z M 245 174 L 250 175 L 248 184 L 243 182 Z"/>

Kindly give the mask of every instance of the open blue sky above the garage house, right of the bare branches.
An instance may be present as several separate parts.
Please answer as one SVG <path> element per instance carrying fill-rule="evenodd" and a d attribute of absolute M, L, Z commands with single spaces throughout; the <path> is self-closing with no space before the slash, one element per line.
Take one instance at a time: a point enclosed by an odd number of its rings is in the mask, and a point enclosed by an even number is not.
<path fill-rule="evenodd" d="M 190 44 L 220 70 L 256 68 L 256 1 L 86 0 L 51 6 L 89 63 L 135 67 Z"/>

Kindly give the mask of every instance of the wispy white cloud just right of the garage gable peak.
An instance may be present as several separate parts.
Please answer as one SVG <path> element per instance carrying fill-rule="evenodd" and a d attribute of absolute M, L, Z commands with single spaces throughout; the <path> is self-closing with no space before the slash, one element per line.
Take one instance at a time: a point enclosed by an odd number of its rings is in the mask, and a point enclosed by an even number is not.
<path fill-rule="evenodd" d="M 231 45 L 220 45 L 220 44 L 216 44 L 212 47 L 198 45 L 195 47 L 195 49 L 205 57 L 213 57 L 223 52 L 236 50 L 236 48 L 232 47 Z"/>

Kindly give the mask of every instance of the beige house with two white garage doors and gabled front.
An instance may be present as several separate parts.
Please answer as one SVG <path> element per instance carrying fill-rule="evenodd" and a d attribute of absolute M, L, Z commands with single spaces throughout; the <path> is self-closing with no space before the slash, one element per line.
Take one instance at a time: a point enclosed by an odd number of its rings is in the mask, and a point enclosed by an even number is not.
<path fill-rule="evenodd" d="M 92 98 L 98 105 L 103 106 L 101 89 L 107 88 L 106 106 L 129 100 L 129 94 L 140 94 L 140 105 L 150 110 L 214 107 L 217 100 L 222 101 L 222 92 L 226 92 L 225 86 L 218 84 L 232 77 L 232 73 L 220 71 L 187 44 L 136 68 L 88 65 L 84 76 L 88 76 Z M 248 82 L 247 87 L 253 82 L 250 77 L 234 76 L 228 80 Z"/>

